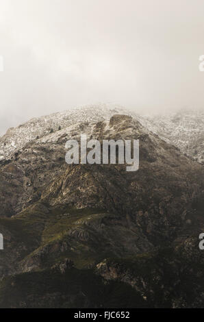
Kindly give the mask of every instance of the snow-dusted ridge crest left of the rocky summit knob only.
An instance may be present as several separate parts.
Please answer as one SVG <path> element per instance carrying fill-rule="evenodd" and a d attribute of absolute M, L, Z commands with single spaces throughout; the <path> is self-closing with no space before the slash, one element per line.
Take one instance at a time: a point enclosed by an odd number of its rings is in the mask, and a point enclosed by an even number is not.
<path fill-rule="evenodd" d="M 47 116 L 31 119 L 18 127 L 8 129 L 0 138 L 0 160 L 10 158 L 32 140 L 43 137 L 48 139 L 49 134 L 55 133 L 76 123 L 95 123 L 109 120 L 114 114 L 133 114 L 116 104 L 97 104 L 73 108 L 64 112 L 57 112 Z"/>

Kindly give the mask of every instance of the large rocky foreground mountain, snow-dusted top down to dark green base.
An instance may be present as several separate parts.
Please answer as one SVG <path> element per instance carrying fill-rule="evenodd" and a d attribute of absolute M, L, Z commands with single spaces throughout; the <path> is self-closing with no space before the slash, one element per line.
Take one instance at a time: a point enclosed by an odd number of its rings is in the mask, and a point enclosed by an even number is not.
<path fill-rule="evenodd" d="M 144 121 L 91 106 L 1 138 L 0 307 L 203 307 L 203 165 Z M 139 170 L 66 164 L 81 133 L 139 139 Z"/>

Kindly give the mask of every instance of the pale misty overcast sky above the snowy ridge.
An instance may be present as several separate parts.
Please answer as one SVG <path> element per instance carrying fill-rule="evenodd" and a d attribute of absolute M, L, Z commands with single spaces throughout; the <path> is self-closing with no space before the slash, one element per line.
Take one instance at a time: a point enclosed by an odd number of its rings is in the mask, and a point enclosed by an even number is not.
<path fill-rule="evenodd" d="M 88 103 L 204 107 L 203 0 L 0 0 L 0 134 Z"/>

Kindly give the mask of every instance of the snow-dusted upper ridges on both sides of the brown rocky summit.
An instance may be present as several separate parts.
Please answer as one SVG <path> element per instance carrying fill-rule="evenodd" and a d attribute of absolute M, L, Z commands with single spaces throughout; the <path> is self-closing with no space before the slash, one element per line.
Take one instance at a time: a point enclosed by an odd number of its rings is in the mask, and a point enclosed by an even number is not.
<path fill-rule="evenodd" d="M 47 116 L 31 119 L 26 123 L 8 129 L 0 138 L 0 160 L 11 158 L 16 151 L 21 151 L 27 143 L 57 142 L 64 134 L 71 134 L 76 125 L 109 120 L 114 114 L 127 114 L 140 121 L 166 142 L 173 144 L 183 153 L 204 162 L 204 112 L 181 110 L 169 114 L 137 114 L 116 104 L 97 104 L 73 108 Z"/>

